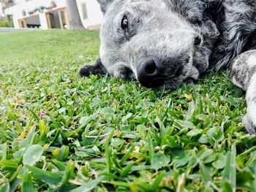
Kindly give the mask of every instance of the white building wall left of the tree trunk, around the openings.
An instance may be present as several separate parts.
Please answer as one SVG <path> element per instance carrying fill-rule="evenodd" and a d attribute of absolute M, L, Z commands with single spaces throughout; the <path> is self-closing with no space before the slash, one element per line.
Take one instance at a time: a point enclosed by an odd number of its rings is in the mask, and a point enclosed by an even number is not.
<path fill-rule="evenodd" d="M 13 15 L 13 23 L 15 28 L 20 28 L 18 20 L 29 17 L 30 16 L 29 12 L 33 11 L 37 7 L 50 7 L 51 1 L 53 0 L 31 0 L 31 1 L 16 0 L 15 6 L 6 9 L 6 14 Z M 54 0 L 54 1 L 57 5 L 57 7 L 55 7 L 54 9 L 66 7 L 65 0 Z M 23 10 L 26 12 L 26 16 L 23 16 L 22 14 Z M 45 12 L 47 12 L 47 10 L 45 10 L 42 13 L 41 12 L 35 13 L 39 15 L 42 29 L 48 28 Z"/>

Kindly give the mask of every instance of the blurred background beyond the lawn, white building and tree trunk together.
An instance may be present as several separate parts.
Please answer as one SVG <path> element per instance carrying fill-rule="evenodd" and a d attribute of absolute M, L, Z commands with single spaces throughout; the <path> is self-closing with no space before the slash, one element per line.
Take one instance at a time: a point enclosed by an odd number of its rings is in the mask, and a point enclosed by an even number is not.
<path fill-rule="evenodd" d="M 0 0 L 0 30 L 99 29 L 97 0 Z"/>

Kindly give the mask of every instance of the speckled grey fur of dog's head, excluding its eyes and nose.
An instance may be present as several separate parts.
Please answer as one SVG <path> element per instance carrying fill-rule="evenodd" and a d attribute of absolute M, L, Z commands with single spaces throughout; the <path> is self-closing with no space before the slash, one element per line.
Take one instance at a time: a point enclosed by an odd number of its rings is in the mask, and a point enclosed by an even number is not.
<path fill-rule="evenodd" d="M 166 88 L 176 88 L 181 81 L 197 80 L 208 70 L 220 36 L 219 1 L 98 1 L 105 15 L 100 31 L 100 58 L 111 76 L 138 79 L 138 66 L 149 57 L 161 61 Z M 130 23 L 127 33 L 121 29 L 124 15 Z M 199 45 L 195 45 L 196 37 L 202 39 Z M 95 69 L 82 66 L 80 75 L 99 72 L 94 72 Z"/>

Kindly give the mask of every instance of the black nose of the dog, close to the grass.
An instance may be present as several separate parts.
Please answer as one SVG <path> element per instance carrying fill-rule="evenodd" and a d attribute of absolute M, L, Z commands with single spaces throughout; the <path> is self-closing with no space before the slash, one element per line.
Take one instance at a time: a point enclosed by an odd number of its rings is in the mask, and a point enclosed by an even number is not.
<path fill-rule="evenodd" d="M 164 84 L 164 71 L 157 59 L 143 60 L 138 66 L 138 81 L 147 88 L 159 87 Z"/>

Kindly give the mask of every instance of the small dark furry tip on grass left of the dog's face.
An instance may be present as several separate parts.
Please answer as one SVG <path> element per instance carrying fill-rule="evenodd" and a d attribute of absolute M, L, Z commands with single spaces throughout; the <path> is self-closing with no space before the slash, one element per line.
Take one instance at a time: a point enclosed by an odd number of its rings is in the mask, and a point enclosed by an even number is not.
<path fill-rule="evenodd" d="M 100 58 L 98 58 L 95 64 L 81 66 L 79 74 L 80 77 L 88 77 L 90 74 L 107 74 L 107 70 L 102 65 Z"/>

